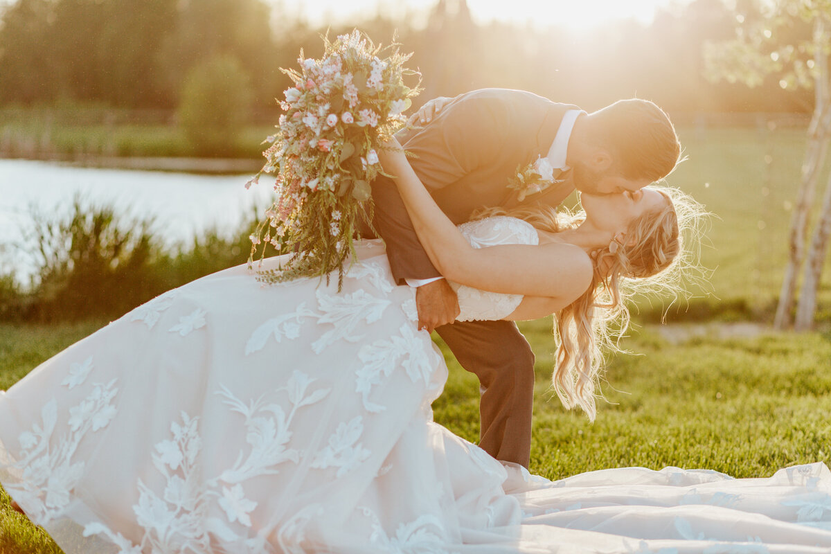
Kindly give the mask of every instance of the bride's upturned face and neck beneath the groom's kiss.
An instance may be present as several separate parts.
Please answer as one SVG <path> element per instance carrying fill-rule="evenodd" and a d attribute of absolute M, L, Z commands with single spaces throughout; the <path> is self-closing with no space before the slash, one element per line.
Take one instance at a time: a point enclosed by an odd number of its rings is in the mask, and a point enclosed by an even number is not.
<path fill-rule="evenodd" d="M 587 221 L 612 234 L 626 231 L 633 219 L 666 206 L 669 200 L 656 189 L 645 187 L 622 194 L 580 193 Z"/>

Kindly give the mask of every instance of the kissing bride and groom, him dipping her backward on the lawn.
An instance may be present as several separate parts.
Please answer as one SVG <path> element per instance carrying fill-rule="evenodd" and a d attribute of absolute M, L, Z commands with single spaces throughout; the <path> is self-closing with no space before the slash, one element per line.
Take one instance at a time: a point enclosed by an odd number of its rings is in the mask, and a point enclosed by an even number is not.
<path fill-rule="evenodd" d="M 379 154 L 383 240 L 356 242 L 342 289 L 231 267 L 0 392 L 0 483 L 27 516 L 67 554 L 827 552 L 831 510 L 800 508 L 831 492 L 821 463 L 526 469 L 534 354 L 514 321 L 555 314 L 553 388 L 593 419 L 627 291 L 691 246 L 701 207 L 646 186 L 681 153 L 666 115 L 487 89 L 420 116 Z M 557 213 L 573 189 L 583 211 Z M 432 421 L 434 328 L 479 377 L 479 446 Z"/>

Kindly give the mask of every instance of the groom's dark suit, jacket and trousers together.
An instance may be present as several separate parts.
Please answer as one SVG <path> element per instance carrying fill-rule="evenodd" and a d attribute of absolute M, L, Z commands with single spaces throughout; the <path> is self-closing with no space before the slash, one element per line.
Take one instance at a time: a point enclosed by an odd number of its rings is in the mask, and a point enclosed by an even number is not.
<path fill-rule="evenodd" d="M 456 96 L 435 119 L 396 138 L 436 203 L 464 223 L 476 209 L 518 205 L 509 179 L 518 166 L 548 154 L 563 115 L 573 105 L 525 91 L 483 89 Z M 569 172 L 570 174 L 570 172 Z M 556 177 L 555 171 L 555 177 Z M 568 174 L 566 174 L 568 175 Z M 557 206 L 573 190 L 570 175 L 524 204 Z M 375 225 L 386 243 L 392 274 L 403 284 L 440 274 L 421 247 L 395 184 L 372 184 Z M 436 329 L 465 370 L 479 377 L 479 445 L 494 458 L 528 466 L 534 396 L 534 354 L 513 321 L 467 321 Z"/>

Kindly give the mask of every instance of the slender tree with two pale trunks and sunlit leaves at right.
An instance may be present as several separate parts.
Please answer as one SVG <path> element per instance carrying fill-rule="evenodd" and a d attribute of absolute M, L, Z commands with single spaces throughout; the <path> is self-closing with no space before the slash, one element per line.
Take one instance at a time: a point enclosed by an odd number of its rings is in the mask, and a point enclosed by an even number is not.
<path fill-rule="evenodd" d="M 735 17 L 734 39 L 706 45 L 708 74 L 712 79 L 753 87 L 760 86 L 765 77 L 774 76 L 784 90 L 814 90 L 801 184 L 791 221 L 789 262 L 774 320 L 777 329 L 790 325 L 801 271 L 804 275 L 794 327 L 805 331 L 814 323 L 817 292 L 831 234 L 829 174 L 819 221 L 808 240 L 814 192 L 831 143 L 831 0 L 739 2 Z"/>

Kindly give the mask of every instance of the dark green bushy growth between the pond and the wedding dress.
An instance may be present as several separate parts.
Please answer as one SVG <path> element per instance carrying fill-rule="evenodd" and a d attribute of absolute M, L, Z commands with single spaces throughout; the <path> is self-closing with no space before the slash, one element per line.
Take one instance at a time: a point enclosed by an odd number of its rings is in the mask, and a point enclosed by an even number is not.
<path fill-rule="evenodd" d="M 77 197 L 65 216 L 33 212 L 32 222 L 24 230 L 27 245 L 18 248 L 31 252 L 36 273 L 24 288 L 13 274 L 0 272 L 0 321 L 122 316 L 161 292 L 246 262 L 257 210 L 233 233 L 209 230 L 173 248 L 155 237 L 152 220 Z M 252 286 L 258 286 L 253 277 Z"/>

